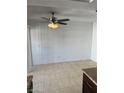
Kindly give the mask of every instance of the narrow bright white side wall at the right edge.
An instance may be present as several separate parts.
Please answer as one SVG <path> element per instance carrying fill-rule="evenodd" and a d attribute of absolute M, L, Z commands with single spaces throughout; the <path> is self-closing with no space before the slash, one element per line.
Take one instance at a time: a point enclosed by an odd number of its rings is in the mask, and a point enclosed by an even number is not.
<path fill-rule="evenodd" d="M 93 23 L 91 59 L 97 62 L 97 23 Z"/>

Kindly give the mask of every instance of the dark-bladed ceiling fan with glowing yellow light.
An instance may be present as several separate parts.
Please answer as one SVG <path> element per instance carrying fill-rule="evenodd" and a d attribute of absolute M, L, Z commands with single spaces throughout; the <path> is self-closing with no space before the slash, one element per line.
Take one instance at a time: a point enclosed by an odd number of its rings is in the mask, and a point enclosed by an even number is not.
<path fill-rule="evenodd" d="M 48 27 L 49 28 L 58 28 L 58 24 L 61 25 L 67 25 L 67 23 L 65 23 L 66 21 L 70 21 L 70 19 L 58 19 L 57 17 L 54 16 L 54 12 L 51 13 L 52 16 L 50 18 L 47 17 L 41 17 L 44 20 L 47 20 L 49 22 Z"/>

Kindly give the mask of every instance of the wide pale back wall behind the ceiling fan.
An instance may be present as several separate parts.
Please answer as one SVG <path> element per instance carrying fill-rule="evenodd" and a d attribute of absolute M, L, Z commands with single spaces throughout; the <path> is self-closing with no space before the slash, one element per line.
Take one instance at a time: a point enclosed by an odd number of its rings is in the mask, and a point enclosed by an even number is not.
<path fill-rule="evenodd" d="M 47 23 L 32 25 L 33 64 L 90 59 L 92 29 L 90 22 L 69 22 L 56 30 Z"/>

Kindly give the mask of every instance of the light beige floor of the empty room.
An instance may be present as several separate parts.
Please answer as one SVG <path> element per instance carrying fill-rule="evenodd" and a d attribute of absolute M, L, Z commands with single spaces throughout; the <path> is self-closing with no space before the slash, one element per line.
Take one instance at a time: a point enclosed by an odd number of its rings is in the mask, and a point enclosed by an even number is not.
<path fill-rule="evenodd" d="M 33 93 L 82 93 L 82 69 L 96 67 L 91 60 L 33 66 Z"/>

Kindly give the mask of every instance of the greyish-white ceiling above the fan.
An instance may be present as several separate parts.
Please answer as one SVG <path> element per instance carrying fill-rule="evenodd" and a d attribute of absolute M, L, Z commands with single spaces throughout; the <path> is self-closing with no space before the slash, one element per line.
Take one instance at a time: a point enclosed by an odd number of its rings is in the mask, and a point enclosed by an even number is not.
<path fill-rule="evenodd" d="M 93 22 L 96 21 L 96 9 L 96 0 L 92 3 L 79 0 L 27 0 L 28 23 L 44 22 L 41 17 L 50 17 L 52 11 L 58 18 Z"/>

